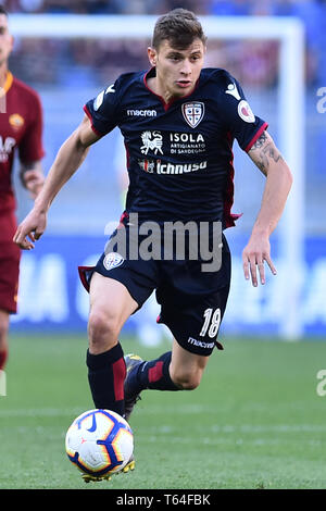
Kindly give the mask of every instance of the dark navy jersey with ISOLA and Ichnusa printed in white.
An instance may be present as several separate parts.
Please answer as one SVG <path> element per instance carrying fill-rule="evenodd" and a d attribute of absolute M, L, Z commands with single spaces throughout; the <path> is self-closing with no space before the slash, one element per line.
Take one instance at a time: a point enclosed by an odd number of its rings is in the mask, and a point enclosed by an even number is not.
<path fill-rule="evenodd" d="M 84 107 L 98 135 L 118 126 L 125 139 L 126 211 L 140 222 L 234 225 L 234 139 L 249 151 L 267 124 L 225 70 L 202 70 L 192 92 L 168 104 L 147 86 L 154 73 L 124 74 Z"/>

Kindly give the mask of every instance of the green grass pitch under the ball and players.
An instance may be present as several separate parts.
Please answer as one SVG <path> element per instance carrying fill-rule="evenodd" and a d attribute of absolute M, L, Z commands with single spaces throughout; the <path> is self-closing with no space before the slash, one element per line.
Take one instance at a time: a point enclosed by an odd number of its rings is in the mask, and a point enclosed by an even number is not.
<path fill-rule="evenodd" d="M 225 339 L 193 391 L 147 390 L 130 420 L 136 470 L 86 485 L 68 461 L 71 422 L 92 409 L 86 337 L 11 335 L 0 397 L 0 488 L 326 488 L 326 344 Z M 170 349 L 131 339 L 125 352 Z"/>

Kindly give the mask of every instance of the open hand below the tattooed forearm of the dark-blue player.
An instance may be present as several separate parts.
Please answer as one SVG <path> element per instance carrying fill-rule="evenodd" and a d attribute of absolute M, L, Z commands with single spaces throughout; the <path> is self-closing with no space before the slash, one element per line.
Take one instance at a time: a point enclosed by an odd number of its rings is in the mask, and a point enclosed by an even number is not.
<path fill-rule="evenodd" d="M 276 269 L 271 259 L 271 245 L 267 236 L 251 235 L 251 238 L 242 252 L 242 263 L 244 278 L 251 278 L 252 285 L 258 286 L 258 275 L 261 284 L 265 284 L 265 262 L 269 266 L 273 275 Z"/>

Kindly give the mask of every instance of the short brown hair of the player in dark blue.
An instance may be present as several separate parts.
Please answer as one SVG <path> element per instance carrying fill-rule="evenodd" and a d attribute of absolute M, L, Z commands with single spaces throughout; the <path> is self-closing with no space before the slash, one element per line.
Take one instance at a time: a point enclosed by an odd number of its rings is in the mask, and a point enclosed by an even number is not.
<path fill-rule="evenodd" d="M 173 48 L 185 50 L 195 39 L 206 43 L 206 36 L 193 12 L 174 9 L 156 21 L 152 37 L 152 47 L 158 50 L 163 40 L 168 40 Z"/>

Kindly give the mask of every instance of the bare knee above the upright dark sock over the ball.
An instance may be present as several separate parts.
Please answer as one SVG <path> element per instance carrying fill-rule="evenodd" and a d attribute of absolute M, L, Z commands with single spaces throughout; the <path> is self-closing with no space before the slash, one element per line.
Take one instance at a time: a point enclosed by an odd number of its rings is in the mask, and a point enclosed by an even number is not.
<path fill-rule="evenodd" d="M 88 319 L 89 347 L 92 352 L 101 352 L 116 344 L 120 324 L 114 314 L 91 311 Z"/>

